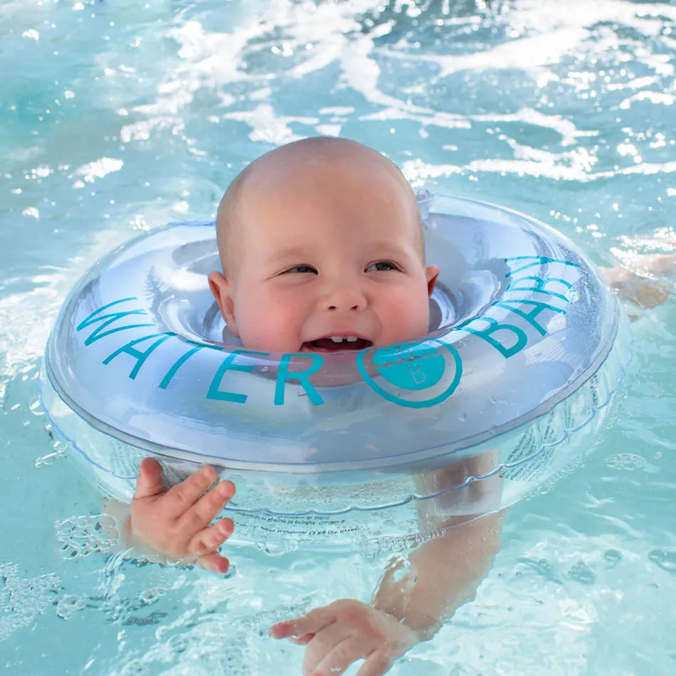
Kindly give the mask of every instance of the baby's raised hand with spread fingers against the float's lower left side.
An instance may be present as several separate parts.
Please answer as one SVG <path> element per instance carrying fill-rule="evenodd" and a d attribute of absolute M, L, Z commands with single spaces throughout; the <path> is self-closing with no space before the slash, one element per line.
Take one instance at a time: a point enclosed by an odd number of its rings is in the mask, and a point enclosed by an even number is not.
<path fill-rule="evenodd" d="M 226 573 L 230 564 L 218 554 L 218 546 L 232 534 L 232 519 L 209 524 L 235 495 L 235 486 L 231 481 L 221 481 L 210 490 L 217 478 L 216 470 L 206 465 L 167 490 L 162 466 L 145 458 L 132 500 L 132 537 L 172 559 Z"/>

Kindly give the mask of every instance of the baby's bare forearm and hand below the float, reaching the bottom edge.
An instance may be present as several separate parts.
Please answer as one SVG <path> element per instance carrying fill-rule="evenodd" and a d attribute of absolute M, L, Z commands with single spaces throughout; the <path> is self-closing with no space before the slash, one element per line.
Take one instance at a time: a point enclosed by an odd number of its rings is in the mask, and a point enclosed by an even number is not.
<path fill-rule="evenodd" d="M 305 675 L 342 674 L 364 658 L 357 676 L 381 676 L 474 598 L 500 549 L 503 516 L 487 514 L 457 524 L 423 543 L 409 556 L 406 574 L 399 575 L 401 562 L 386 571 L 372 606 L 344 598 L 275 624 L 270 635 L 307 645 Z"/>

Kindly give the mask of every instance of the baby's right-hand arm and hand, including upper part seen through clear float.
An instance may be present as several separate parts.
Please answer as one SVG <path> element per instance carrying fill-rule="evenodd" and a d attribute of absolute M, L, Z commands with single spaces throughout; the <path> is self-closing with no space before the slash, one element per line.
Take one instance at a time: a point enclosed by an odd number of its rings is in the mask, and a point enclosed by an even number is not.
<path fill-rule="evenodd" d="M 463 485 L 470 476 L 486 478 L 418 505 L 421 529 L 441 534 L 411 552 L 408 570 L 402 560 L 389 567 L 372 605 L 341 599 L 270 628 L 274 638 L 307 645 L 305 674 L 341 674 L 365 658 L 357 676 L 381 676 L 397 657 L 431 638 L 445 618 L 474 598 L 500 549 L 504 511 L 474 519 L 452 514 L 471 507 L 487 512 L 500 504 L 502 479 L 494 471 L 498 461 L 487 451 L 418 476 L 426 495 Z"/>

